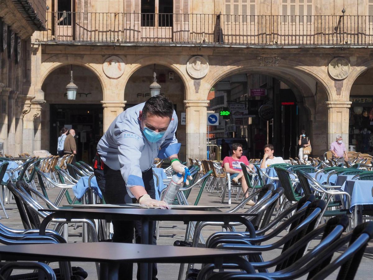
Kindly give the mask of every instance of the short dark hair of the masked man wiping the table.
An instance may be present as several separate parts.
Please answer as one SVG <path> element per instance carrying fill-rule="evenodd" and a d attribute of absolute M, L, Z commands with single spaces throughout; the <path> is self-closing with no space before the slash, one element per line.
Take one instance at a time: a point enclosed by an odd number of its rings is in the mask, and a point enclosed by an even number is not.
<path fill-rule="evenodd" d="M 173 114 L 173 104 L 164 95 L 156 95 L 150 97 L 142 108 L 142 115 L 145 118 L 148 116 L 160 116 L 172 118 Z"/>

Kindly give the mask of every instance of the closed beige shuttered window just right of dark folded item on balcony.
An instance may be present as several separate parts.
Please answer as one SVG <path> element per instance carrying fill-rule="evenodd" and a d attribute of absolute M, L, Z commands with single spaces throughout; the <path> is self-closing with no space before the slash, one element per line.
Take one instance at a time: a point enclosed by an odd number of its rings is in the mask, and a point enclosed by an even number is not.
<path fill-rule="evenodd" d="M 256 0 L 225 0 L 226 23 L 255 22 Z"/>

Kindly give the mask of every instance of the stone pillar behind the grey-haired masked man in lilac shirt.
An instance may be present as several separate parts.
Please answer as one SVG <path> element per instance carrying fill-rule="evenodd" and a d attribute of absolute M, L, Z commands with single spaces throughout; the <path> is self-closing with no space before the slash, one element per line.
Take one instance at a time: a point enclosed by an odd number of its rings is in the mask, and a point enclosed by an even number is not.
<path fill-rule="evenodd" d="M 329 109 L 328 145 L 335 141 L 337 135 L 340 135 L 348 150 L 348 121 L 351 102 L 328 101 L 326 104 Z M 327 149 L 329 150 L 329 147 Z"/>

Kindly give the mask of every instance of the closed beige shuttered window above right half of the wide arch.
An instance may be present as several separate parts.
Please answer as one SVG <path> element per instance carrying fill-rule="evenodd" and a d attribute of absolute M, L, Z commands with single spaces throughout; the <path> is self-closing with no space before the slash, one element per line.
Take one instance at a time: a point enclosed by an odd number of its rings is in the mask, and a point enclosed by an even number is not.
<path fill-rule="evenodd" d="M 312 22 L 313 0 L 282 0 L 282 22 L 292 24 Z M 297 21 L 299 19 L 299 22 Z"/>

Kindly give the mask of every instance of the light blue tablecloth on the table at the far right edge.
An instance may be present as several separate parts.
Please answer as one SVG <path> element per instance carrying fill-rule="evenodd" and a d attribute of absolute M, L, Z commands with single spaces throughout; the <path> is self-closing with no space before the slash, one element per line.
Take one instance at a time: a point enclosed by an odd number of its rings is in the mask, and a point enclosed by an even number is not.
<path fill-rule="evenodd" d="M 346 180 L 341 190 L 351 195 L 350 211 L 355 205 L 373 204 L 372 196 L 373 181 L 366 180 Z"/>

